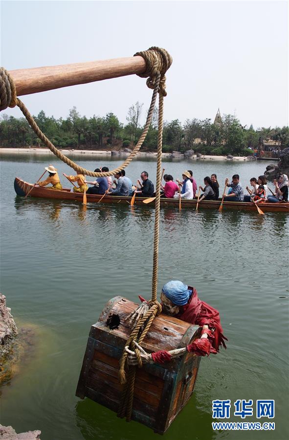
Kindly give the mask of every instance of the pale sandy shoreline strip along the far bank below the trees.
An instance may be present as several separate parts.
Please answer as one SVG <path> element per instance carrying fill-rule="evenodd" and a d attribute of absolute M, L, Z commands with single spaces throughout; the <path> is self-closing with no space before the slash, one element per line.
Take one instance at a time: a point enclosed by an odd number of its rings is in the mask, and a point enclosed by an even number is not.
<path fill-rule="evenodd" d="M 130 153 L 130 148 L 124 148 L 123 150 L 112 150 L 112 151 L 103 151 L 103 150 L 65 150 L 60 149 L 60 151 L 65 154 L 68 157 L 73 156 L 80 156 L 80 155 L 86 155 L 87 157 L 102 157 L 102 158 L 127 158 Z M 47 148 L 0 148 L 0 154 L 37 154 L 37 155 L 51 155 L 53 156 L 53 153 L 47 149 Z M 145 158 L 151 158 L 156 159 L 157 153 L 156 151 L 153 152 L 138 152 L 136 157 L 139 159 L 145 159 Z M 172 153 L 162 153 L 162 158 L 164 159 L 172 159 L 176 161 L 182 161 L 182 160 L 191 160 L 191 161 L 202 161 L 202 160 L 208 160 L 208 161 L 254 161 L 256 158 L 253 156 L 241 156 L 241 157 L 234 157 L 231 155 L 227 156 L 212 156 L 212 155 L 202 155 L 200 153 L 195 153 L 194 150 L 188 150 L 185 153 L 180 153 L 179 151 L 173 151 Z"/>

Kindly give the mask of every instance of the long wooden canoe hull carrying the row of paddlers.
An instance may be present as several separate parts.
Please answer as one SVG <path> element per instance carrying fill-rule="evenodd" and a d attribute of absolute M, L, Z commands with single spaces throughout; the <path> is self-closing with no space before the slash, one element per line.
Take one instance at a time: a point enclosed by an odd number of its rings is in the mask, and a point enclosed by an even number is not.
<path fill-rule="evenodd" d="M 24 182 L 18 177 L 15 178 L 14 181 L 14 189 L 17 195 L 25 196 L 30 189 L 33 187 L 33 184 L 28 182 Z M 29 197 L 39 197 L 43 199 L 57 199 L 57 200 L 75 200 L 77 202 L 82 203 L 83 194 L 77 192 L 70 192 L 69 188 L 64 188 L 62 191 L 58 191 L 55 189 L 49 189 L 49 187 L 40 187 L 34 186 L 31 190 Z M 97 203 L 102 198 L 101 195 L 96 194 L 87 194 L 87 202 L 88 203 Z M 143 205 L 144 197 L 135 197 L 135 204 Z M 124 203 L 130 204 L 131 197 L 124 196 L 108 196 L 103 197 L 101 203 Z M 166 199 L 161 198 L 160 204 L 162 206 L 176 206 L 178 207 L 178 199 Z M 199 208 L 210 208 L 210 209 L 218 209 L 221 204 L 221 199 L 219 200 L 204 200 L 199 203 Z M 181 206 L 182 208 L 196 208 L 197 200 L 185 200 L 182 199 Z M 154 202 L 146 206 L 154 206 Z M 223 202 L 223 208 L 225 209 L 240 209 L 242 211 L 254 211 L 257 209 L 253 203 L 245 203 L 245 202 Z M 264 212 L 287 212 L 289 213 L 289 203 L 262 203 L 260 208 Z"/>

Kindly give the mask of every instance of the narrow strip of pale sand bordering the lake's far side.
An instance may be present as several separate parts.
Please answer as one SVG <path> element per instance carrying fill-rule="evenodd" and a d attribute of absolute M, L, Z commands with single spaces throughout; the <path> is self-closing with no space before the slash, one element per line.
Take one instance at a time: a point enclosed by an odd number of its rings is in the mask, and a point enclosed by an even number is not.
<path fill-rule="evenodd" d="M 117 152 L 111 151 L 98 151 L 98 150 L 60 150 L 63 154 L 65 154 L 67 157 L 73 157 L 73 156 L 80 156 L 80 155 L 86 155 L 87 157 L 113 157 L 114 159 L 121 158 L 121 157 L 128 157 L 129 153 L 121 153 L 117 154 Z M 0 155 L 5 154 L 39 154 L 39 155 L 51 155 L 53 156 L 53 153 L 48 150 L 47 148 L 0 148 Z M 139 158 L 156 158 L 156 152 L 138 152 L 137 156 Z M 170 158 L 171 153 L 162 153 L 163 158 Z M 180 155 L 179 158 L 174 158 L 174 161 L 182 161 L 182 160 L 189 160 L 189 161 L 247 161 L 247 158 L 242 157 L 234 157 L 234 159 L 227 159 L 225 156 L 201 156 L 197 157 L 197 155 L 194 155 L 190 157 L 189 159 L 184 159 L 183 155 Z"/>

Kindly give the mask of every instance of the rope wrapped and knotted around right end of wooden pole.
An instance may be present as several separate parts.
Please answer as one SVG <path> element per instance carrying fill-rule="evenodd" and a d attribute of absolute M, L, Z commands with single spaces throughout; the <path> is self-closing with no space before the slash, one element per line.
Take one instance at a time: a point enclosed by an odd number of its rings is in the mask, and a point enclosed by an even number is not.
<path fill-rule="evenodd" d="M 138 76 L 147 79 L 147 86 L 150 89 L 154 89 L 156 85 L 157 75 L 160 74 L 159 92 L 163 96 L 166 96 L 166 71 L 171 67 L 173 58 L 166 49 L 162 47 L 152 46 L 148 50 L 136 52 L 133 56 L 141 56 L 147 65 L 147 69 L 144 73 L 139 73 Z"/>

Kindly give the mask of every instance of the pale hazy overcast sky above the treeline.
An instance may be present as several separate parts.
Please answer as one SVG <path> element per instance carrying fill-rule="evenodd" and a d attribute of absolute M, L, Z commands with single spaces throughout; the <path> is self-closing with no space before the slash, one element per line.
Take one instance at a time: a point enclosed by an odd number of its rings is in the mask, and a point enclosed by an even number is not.
<path fill-rule="evenodd" d="M 173 57 L 165 119 L 236 115 L 243 125 L 288 125 L 287 1 L 1 1 L 1 66 L 26 69 L 132 56 Z M 126 122 L 151 91 L 136 75 L 22 96 L 30 112 L 113 112 Z M 19 109 L 5 113 L 21 116 Z M 143 112 L 143 117 L 145 111 Z"/>

